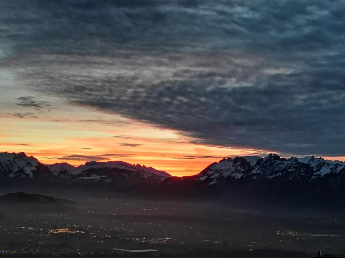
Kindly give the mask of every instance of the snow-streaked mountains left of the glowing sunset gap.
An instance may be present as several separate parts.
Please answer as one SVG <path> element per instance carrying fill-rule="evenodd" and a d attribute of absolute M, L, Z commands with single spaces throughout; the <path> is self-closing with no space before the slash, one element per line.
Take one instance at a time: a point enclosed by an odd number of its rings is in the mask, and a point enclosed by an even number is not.
<path fill-rule="evenodd" d="M 152 167 L 132 165 L 122 161 L 96 162 L 72 166 L 68 163 L 44 165 L 25 153 L 0 153 L 0 176 L 2 178 L 35 178 L 38 175 L 49 175 L 55 181 L 73 183 L 158 183 L 172 177 L 164 171 Z M 61 180 L 58 180 L 58 179 Z"/>

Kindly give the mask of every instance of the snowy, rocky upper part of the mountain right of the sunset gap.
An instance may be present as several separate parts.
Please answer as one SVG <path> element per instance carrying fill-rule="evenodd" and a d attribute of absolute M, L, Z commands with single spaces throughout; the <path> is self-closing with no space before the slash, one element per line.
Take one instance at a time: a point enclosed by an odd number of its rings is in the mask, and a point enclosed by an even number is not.
<path fill-rule="evenodd" d="M 290 159 L 269 154 L 265 158 L 257 156 L 236 157 L 220 160 L 209 165 L 198 175 L 188 180 L 205 181 L 209 185 L 224 180 L 279 180 L 292 179 L 313 181 L 327 174 L 345 174 L 345 162 L 324 160 L 314 156 Z"/>

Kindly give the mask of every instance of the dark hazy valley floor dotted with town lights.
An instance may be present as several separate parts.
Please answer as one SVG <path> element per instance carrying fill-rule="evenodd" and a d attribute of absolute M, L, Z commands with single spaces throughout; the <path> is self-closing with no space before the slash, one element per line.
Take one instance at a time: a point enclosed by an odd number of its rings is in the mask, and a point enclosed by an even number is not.
<path fill-rule="evenodd" d="M 310 257 L 319 249 L 338 257 L 344 254 L 345 216 L 322 207 L 317 210 L 250 208 L 205 200 L 85 197 L 77 192 L 54 196 L 74 202 L 42 196 L 39 196 L 42 201 L 32 202 L 29 196 L 21 198 L 29 200 L 27 203 L 16 200 L 1 203 L 1 254 Z M 56 201 L 62 202 L 61 209 Z M 34 209 L 30 208 L 32 205 Z M 129 253 L 118 249 L 157 251 Z"/>

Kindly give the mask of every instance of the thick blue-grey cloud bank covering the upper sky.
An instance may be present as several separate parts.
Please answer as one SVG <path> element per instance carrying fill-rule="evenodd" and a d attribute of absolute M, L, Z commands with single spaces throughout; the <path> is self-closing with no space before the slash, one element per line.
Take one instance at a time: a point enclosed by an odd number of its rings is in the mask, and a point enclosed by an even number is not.
<path fill-rule="evenodd" d="M 345 155 L 345 3 L 10 1 L 1 66 L 199 143 Z M 187 158 L 187 157 L 186 157 Z"/>

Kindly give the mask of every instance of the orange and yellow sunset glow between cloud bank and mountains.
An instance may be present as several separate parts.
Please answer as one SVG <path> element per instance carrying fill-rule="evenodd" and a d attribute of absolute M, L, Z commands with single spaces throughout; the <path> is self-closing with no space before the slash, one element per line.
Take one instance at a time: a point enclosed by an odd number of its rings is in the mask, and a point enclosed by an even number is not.
<path fill-rule="evenodd" d="M 193 143 L 176 131 L 160 129 L 142 122 L 97 114 L 81 119 L 82 108 L 74 108 L 73 119 L 55 117 L 52 110 L 43 118 L 1 117 L 0 151 L 24 152 L 41 163 L 124 161 L 152 166 L 174 176 L 194 175 L 220 159 L 237 155 L 261 155 L 264 151 L 221 148 Z M 78 116 L 81 117 L 78 117 Z M 126 121 L 124 127 L 120 121 Z"/>

